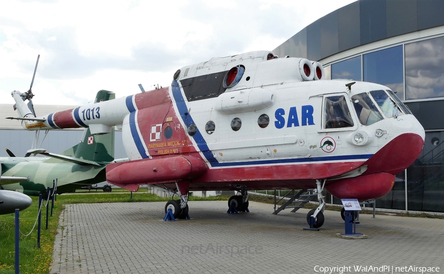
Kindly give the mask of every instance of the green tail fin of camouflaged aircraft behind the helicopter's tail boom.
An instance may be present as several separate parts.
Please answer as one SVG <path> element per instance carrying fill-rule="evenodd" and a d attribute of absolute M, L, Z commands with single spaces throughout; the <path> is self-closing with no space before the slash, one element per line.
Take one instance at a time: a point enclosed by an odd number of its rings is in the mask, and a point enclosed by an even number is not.
<path fill-rule="evenodd" d="M 114 98 L 115 93 L 108 90 L 100 90 L 97 92 L 95 103 L 108 101 Z M 85 128 L 80 143 L 61 154 L 95 162 L 113 161 L 114 127 L 111 128 L 111 133 L 103 135 L 93 135 L 89 128 Z"/>

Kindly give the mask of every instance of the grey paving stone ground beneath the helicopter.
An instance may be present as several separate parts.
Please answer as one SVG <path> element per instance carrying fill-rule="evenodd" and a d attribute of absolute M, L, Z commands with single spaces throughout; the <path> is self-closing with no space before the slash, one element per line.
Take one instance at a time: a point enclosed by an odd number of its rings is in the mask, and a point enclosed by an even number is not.
<path fill-rule="evenodd" d="M 251 213 L 226 214 L 227 201 L 188 204 L 191 220 L 176 222 L 162 221 L 165 202 L 67 205 L 51 273 L 444 272 L 444 220 L 361 214 L 356 232 L 369 238 L 348 240 L 336 236 L 339 212 L 325 211 L 311 232 L 307 209 L 273 215 L 273 205 L 250 201 Z"/>

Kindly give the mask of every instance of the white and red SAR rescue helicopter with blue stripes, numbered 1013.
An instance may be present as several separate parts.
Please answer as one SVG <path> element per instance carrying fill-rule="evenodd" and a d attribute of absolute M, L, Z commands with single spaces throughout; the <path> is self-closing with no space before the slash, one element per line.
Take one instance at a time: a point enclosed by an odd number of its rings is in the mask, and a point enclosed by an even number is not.
<path fill-rule="evenodd" d="M 386 195 L 425 136 L 390 88 L 324 78 L 318 62 L 254 51 L 183 67 L 169 87 L 43 117 L 26 93 L 12 96 L 25 129 L 121 127 L 129 161 L 108 164 L 107 181 L 178 192 L 165 206 L 175 217 L 187 215 L 189 191 L 237 190 L 229 204 L 245 209 L 248 190 L 316 188 L 307 217 L 320 227 L 324 188 L 360 201 Z"/>

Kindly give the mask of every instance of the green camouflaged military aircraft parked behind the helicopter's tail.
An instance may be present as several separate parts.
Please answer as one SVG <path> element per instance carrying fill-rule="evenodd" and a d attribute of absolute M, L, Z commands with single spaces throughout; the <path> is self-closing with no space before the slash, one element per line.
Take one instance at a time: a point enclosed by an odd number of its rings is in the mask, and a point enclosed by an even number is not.
<path fill-rule="evenodd" d="M 114 93 L 101 90 L 95 102 L 114 98 Z M 92 135 L 90 129 L 85 128 L 80 143 L 61 154 L 42 149 L 28 153 L 45 157 L 0 157 L 2 190 L 38 195 L 46 192 L 47 187 L 52 188 L 57 179 L 58 194 L 73 192 L 82 186 L 106 181 L 105 167 L 114 161 L 114 128 L 103 135 Z"/>

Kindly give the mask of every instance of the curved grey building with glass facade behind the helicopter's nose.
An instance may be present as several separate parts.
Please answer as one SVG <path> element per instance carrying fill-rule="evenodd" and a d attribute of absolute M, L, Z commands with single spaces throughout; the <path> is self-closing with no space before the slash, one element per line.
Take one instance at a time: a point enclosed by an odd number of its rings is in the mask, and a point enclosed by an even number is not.
<path fill-rule="evenodd" d="M 444 1 L 359 0 L 274 49 L 323 64 L 327 79 L 390 87 L 421 122 L 422 154 L 376 207 L 444 212 Z M 408 149 L 408 148 L 406 148 Z M 340 204 L 331 197 L 330 201 Z"/>

